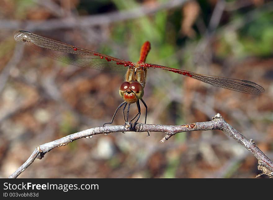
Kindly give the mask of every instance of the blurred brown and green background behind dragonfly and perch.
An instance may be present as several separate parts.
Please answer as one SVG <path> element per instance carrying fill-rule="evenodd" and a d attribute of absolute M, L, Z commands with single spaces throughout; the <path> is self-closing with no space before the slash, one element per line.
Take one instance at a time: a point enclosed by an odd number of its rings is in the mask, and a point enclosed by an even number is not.
<path fill-rule="evenodd" d="M 149 69 L 147 123 L 210 121 L 217 113 L 273 159 L 273 2 L 266 0 L 0 1 L 0 176 L 40 144 L 109 122 L 124 74 L 82 69 L 16 43 L 17 30 L 137 62 L 245 79 L 249 95 Z M 144 122 L 144 107 L 139 122 Z M 131 106 L 131 113 L 136 112 Z M 114 124 L 124 124 L 120 112 Z M 222 131 L 112 133 L 76 140 L 35 160 L 19 178 L 253 178 L 257 159 Z M 266 178 L 266 176 L 261 176 Z"/>

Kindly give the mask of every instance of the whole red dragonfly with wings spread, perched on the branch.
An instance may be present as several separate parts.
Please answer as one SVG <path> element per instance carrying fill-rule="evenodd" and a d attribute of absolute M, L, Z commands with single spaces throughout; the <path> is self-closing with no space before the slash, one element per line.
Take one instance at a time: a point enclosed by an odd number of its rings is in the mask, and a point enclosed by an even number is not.
<path fill-rule="evenodd" d="M 142 97 L 144 95 L 147 69 L 149 68 L 167 70 L 170 72 L 184 75 L 186 77 L 195 78 L 199 81 L 208 83 L 216 87 L 222 87 L 229 90 L 247 94 L 261 94 L 262 92 L 265 91 L 265 89 L 262 86 L 258 85 L 255 82 L 247 80 L 204 75 L 200 73 L 186 71 L 183 69 L 171 68 L 159 64 L 145 63 L 146 57 L 151 49 L 151 44 L 149 41 L 144 42 L 144 44 L 142 45 L 140 50 L 139 61 L 137 63 L 133 63 L 131 61 L 122 60 L 102 53 L 98 53 L 96 51 L 83 49 L 81 47 L 66 44 L 64 42 L 59 42 L 57 40 L 45 38 L 35 33 L 30 33 L 29 31 L 24 30 L 17 31 L 14 35 L 14 39 L 18 42 L 25 42 L 34 46 L 48 49 L 50 50 L 49 56 L 51 58 L 60 60 L 68 64 L 73 64 L 79 67 L 93 69 L 105 69 L 105 67 L 108 67 L 108 69 L 115 69 L 122 66 L 123 68 L 127 68 L 125 81 L 119 87 L 119 95 L 124 101 L 116 109 L 111 122 L 107 122 L 105 124 L 112 124 L 119 109 L 123 108 L 123 118 L 126 125 L 126 123 L 128 123 L 130 105 L 136 103 L 138 112 L 129 121 L 129 127 L 132 129 L 135 128 L 141 115 L 140 101 L 143 103 L 145 107 L 146 123 L 147 105 Z M 70 55 L 70 57 L 68 55 Z"/>

